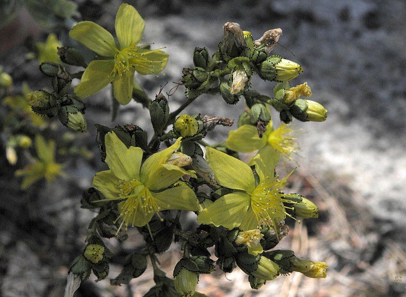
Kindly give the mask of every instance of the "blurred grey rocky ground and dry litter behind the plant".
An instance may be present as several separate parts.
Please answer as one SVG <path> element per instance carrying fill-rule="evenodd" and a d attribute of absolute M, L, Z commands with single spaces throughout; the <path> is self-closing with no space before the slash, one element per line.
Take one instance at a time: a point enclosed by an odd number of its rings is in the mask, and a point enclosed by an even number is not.
<path fill-rule="evenodd" d="M 138 78 L 150 97 L 166 81 L 164 91 L 179 81 L 182 68 L 192 65 L 194 47 L 205 46 L 213 53 L 222 38 L 222 25 L 233 21 L 251 31 L 254 39 L 268 29 L 282 28 L 281 46 L 277 45 L 273 53 L 302 65 L 304 72 L 292 84 L 307 81 L 312 100 L 328 109 L 326 122 L 295 122 L 307 133 L 300 138 L 302 157 L 291 178 L 291 190 L 314 200 L 320 218 L 292 224 L 281 242 L 281 248 L 293 249 L 300 257 L 326 261 L 327 279 L 307 279 L 293 273 L 252 290 L 247 276 L 236 269 L 229 275 L 201 275 L 197 290 L 216 297 L 406 296 L 406 3 L 77 0 L 78 20 L 92 20 L 113 31 L 115 13 L 122 2 L 132 4 L 144 17 L 143 42 L 165 46 L 170 54 L 163 75 Z M 47 34 L 24 8 L 16 14 L 14 22 L 0 29 L 0 64 L 12 75 L 16 88 L 23 81 L 31 89 L 49 87 L 38 63 L 24 60 L 27 43 L 44 41 Z M 56 34 L 63 44 L 70 43 L 63 32 Z M 272 92 L 273 86 L 253 82 L 262 93 Z M 170 97 L 171 108 L 185 100 L 183 91 L 180 87 Z M 68 177 L 22 191 L 20 180 L 14 177 L 15 167 L 8 164 L 4 151 L 0 155 L 2 296 L 63 295 L 70 262 L 84 248 L 93 215 L 80 209 L 81 193 L 90 186 L 94 173 L 105 169 L 93 124 L 149 127 L 148 112 L 137 103 L 121 108 L 111 122 L 108 89 L 85 102 L 88 132 L 76 141 L 94 156 L 89 160 L 62 158 Z M 243 109 L 244 102 L 228 106 L 218 95 L 207 95 L 186 111 L 237 119 Z M 278 123 L 276 114 L 274 122 Z M 60 124 L 58 128 L 65 131 Z M 224 140 L 228 130 L 216 128 L 209 135 L 210 141 Z M 116 240 L 107 243 L 115 253 L 112 278 L 119 273 L 123 256 L 142 246 L 136 230 L 129 235 L 124 244 Z M 168 275 L 180 257 L 174 245 L 160 257 Z M 130 285 L 121 287 L 111 286 L 108 280 L 95 283 L 91 277 L 75 296 L 142 296 L 153 284 L 151 275 L 149 268 Z M 396 277 L 402 281 L 395 281 Z"/>

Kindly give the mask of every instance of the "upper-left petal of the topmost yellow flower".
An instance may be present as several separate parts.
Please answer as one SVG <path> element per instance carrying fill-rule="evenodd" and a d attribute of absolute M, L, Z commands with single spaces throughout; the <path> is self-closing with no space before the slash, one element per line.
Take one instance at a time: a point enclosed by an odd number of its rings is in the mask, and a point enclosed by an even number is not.
<path fill-rule="evenodd" d="M 118 53 L 113 36 L 96 23 L 79 22 L 69 32 L 69 36 L 100 56 L 114 57 Z"/>

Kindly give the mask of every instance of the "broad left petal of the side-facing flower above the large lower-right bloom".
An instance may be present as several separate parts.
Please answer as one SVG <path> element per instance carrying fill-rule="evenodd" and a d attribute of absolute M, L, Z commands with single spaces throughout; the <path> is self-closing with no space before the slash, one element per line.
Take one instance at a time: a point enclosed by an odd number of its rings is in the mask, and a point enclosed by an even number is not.
<path fill-rule="evenodd" d="M 248 153 L 263 148 L 266 145 L 266 137 L 259 138 L 256 127 L 242 125 L 234 131 L 229 131 L 225 144 L 233 151 Z"/>

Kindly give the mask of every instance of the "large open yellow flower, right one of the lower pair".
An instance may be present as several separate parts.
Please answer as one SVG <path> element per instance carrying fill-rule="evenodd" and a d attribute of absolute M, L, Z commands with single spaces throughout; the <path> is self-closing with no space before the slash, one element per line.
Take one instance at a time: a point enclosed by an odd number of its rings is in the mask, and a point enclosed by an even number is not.
<path fill-rule="evenodd" d="M 274 148 L 265 146 L 253 158 L 258 185 L 251 168 L 243 161 L 210 147 L 206 148 L 206 158 L 217 183 L 235 191 L 202 210 L 197 216 L 199 223 L 246 231 L 261 225 L 276 228 L 277 221 L 288 215 L 283 205 L 287 200 L 280 189 L 292 172 L 282 180 L 277 179 L 279 154 Z"/>

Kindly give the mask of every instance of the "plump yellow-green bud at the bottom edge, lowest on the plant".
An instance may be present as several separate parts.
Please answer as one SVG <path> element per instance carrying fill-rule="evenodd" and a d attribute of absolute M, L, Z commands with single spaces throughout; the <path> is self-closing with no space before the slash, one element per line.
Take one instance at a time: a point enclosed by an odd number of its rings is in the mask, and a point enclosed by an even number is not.
<path fill-rule="evenodd" d="M 174 269 L 175 289 L 182 297 L 190 297 L 199 282 L 199 268 L 191 259 L 181 259 Z"/>

